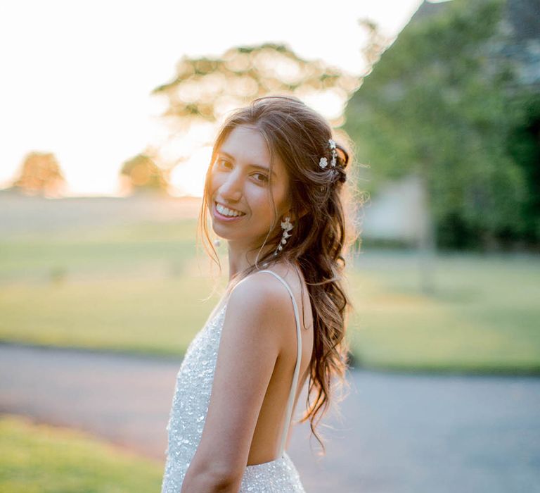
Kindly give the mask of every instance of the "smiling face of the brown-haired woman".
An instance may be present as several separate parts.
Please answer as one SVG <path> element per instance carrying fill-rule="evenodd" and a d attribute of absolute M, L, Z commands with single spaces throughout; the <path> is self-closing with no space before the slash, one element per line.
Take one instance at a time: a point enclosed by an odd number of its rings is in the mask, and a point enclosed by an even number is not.
<path fill-rule="evenodd" d="M 269 194 L 274 196 L 278 221 L 287 213 L 288 175 L 278 156 L 270 180 L 270 152 L 262 135 L 253 127 L 233 128 L 211 164 L 209 208 L 214 232 L 233 242 L 253 246 L 262 243 L 274 220 Z M 216 201 L 238 211 L 228 218 Z M 220 208 L 220 211 L 217 209 Z"/>

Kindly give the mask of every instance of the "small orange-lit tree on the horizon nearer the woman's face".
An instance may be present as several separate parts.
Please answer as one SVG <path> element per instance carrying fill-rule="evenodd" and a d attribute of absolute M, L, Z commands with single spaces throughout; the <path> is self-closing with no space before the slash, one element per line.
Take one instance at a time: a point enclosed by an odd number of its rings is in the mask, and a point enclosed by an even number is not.
<path fill-rule="evenodd" d="M 127 178 L 127 186 L 133 192 L 167 193 L 169 176 L 147 154 L 137 154 L 122 165 L 120 175 Z"/>

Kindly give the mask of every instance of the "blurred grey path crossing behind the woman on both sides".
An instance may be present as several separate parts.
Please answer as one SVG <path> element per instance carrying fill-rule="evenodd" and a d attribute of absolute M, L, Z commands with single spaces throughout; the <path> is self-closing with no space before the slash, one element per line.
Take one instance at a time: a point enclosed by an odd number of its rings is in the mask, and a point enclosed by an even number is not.
<path fill-rule="evenodd" d="M 165 461 L 179 363 L 0 344 L 0 412 Z M 540 378 L 354 370 L 350 381 L 342 420 L 319 427 L 326 458 L 314 438 L 310 451 L 309 425 L 293 432 L 288 452 L 309 493 L 540 492 Z"/>

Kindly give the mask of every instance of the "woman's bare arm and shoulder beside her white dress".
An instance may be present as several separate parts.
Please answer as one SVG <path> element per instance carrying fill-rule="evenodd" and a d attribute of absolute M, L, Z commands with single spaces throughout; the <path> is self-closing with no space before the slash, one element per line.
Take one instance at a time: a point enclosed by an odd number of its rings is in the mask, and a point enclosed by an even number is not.
<path fill-rule="evenodd" d="M 259 411 L 290 316 L 288 294 L 265 276 L 231 293 L 200 444 L 181 493 L 238 492 Z"/>

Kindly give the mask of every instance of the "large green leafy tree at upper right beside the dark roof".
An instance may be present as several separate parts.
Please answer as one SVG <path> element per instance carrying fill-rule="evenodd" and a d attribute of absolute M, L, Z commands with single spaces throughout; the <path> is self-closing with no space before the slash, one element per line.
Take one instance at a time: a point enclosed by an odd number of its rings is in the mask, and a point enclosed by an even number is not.
<path fill-rule="evenodd" d="M 347 106 L 345 129 L 371 186 L 417 174 L 439 225 L 521 234 L 522 169 L 508 152 L 518 118 L 499 56 L 502 0 L 454 0 L 401 32 Z"/>

